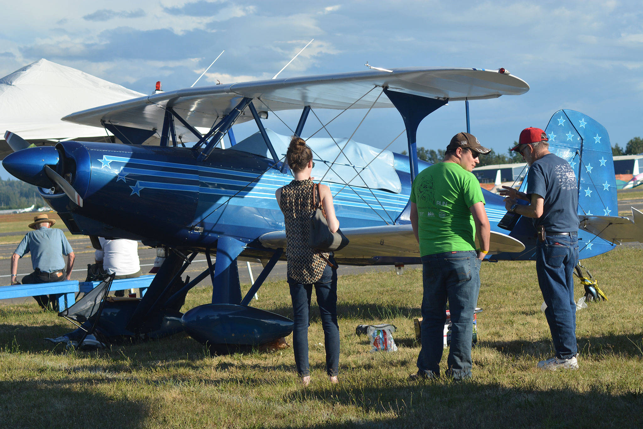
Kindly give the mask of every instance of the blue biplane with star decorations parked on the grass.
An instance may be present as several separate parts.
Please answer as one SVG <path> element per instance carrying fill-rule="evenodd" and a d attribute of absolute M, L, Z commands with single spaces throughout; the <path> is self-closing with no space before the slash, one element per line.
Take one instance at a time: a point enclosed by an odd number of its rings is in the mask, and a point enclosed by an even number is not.
<path fill-rule="evenodd" d="M 3 165 L 37 185 L 71 232 L 135 239 L 167 251 L 145 297 L 118 320 L 121 334 L 158 331 L 163 312 L 180 308 L 188 290 L 210 276 L 212 304 L 188 311 L 183 327 L 210 345 L 253 345 L 292 329 L 286 318 L 248 307 L 276 262 L 285 258 L 284 217 L 275 190 L 292 179 L 284 163 L 289 136 L 266 129 L 262 118 L 301 109 L 293 130 L 301 136 L 314 109 L 395 107 L 403 116 L 409 156 L 350 138 L 311 137 L 307 142 L 316 161 L 313 176 L 331 188 L 342 231 L 350 239 L 336 260 L 418 264 L 408 199 L 413 178 L 430 165 L 417 159 L 419 123 L 448 102 L 462 100 L 469 131 L 469 100 L 528 90 L 526 82 L 505 69 L 475 68 L 370 69 L 179 89 L 64 118 L 105 127 L 123 144 L 62 141 L 16 151 Z M 255 121 L 258 132 L 237 143 L 231 127 L 248 121 Z M 634 211 L 634 222 L 617 216 L 606 130 L 582 113 L 561 110 L 546 132 L 550 150 L 570 161 L 578 179 L 581 259 L 620 242 L 643 241 L 643 214 Z M 226 134 L 231 147 L 222 149 L 219 142 Z M 141 144 L 154 135 L 160 136 L 159 145 Z M 185 147 L 183 141 L 196 143 Z M 21 143 L 12 147 L 21 149 Z M 492 228 L 487 259 L 532 259 L 536 233 L 529 219 L 520 219 L 511 231 L 499 228 L 507 213 L 502 197 L 486 191 L 484 196 Z M 199 252 L 205 253 L 208 269 L 194 280 L 182 280 Z M 264 264 L 245 295 L 239 259 Z"/>

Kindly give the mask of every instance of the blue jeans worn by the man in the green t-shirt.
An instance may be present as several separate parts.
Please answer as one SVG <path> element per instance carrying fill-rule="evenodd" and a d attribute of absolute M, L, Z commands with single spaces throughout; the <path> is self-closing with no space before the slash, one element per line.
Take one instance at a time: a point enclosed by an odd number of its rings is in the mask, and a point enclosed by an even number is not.
<path fill-rule="evenodd" d="M 449 300 L 452 325 L 446 374 L 455 379 L 471 377 L 473 312 L 480 292 L 480 262 L 474 250 L 422 257 L 422 349 L 417 367 L 426 376 L 431 376 L 431 372 L 440 375 Z"/>

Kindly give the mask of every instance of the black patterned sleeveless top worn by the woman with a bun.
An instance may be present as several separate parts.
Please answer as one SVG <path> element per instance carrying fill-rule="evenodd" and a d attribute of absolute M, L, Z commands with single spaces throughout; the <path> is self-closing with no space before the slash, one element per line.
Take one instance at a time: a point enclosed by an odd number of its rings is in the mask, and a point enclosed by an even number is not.
<path fill-rule="evenodd" d="M 321 253 L 308 246 L 313 186 L 311 179 L 293 180 L 282 188 L 280 200 L 285 219 L 288 276 L 303 284 L 314 283 L 321 278 L 328 262 L 320 255 L 329 257 L 329 253 Z"/>

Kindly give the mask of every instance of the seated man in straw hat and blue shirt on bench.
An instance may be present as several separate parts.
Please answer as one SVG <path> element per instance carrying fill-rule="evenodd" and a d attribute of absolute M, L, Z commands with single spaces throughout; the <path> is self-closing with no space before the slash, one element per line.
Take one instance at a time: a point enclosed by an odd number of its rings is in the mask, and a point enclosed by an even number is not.
<path fill-rule="evenodd" d="M 69 241 L 64 233 L 58 228 L 51 228 L 55 224 L 55 219 L 50 219 L 48 215 L 41 214 L 33 218 L 33 223 L 29 225 L 32 232 L 26 233 L 23 241 L 15 248 L 11 256 L 11 284 L 18 284 L 18 259 L 26 253 L 32 253 L 33 273 L 23 277 L 23 284 L 33 283 L 50 283 L 69 280 L 71 269 L 74 266 L 74 251 L 69 245 Z M 65 260 L 62 255 L 67 256 L 67 270 L 65 271 Z M 51 300 L 47 295 L 33 297 L 38 304 L 46 309 L 49 304 L 55 309 L 56 302 Z"/>

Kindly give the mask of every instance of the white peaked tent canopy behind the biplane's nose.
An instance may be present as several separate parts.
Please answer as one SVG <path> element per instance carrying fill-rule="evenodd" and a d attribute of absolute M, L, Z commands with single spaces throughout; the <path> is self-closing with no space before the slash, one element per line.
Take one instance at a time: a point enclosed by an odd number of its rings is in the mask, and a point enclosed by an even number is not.
<path fill-rule="evenodd" d="M 47 140 L 96 140 L 105 129 L 63 122 L 63 116 L 144 94 L 74 69 L 40 59 L 0 79 L 0 152 L 12 131 L 33 143 Z M 111 134 L 110 134 L 111 135 Z"/>

